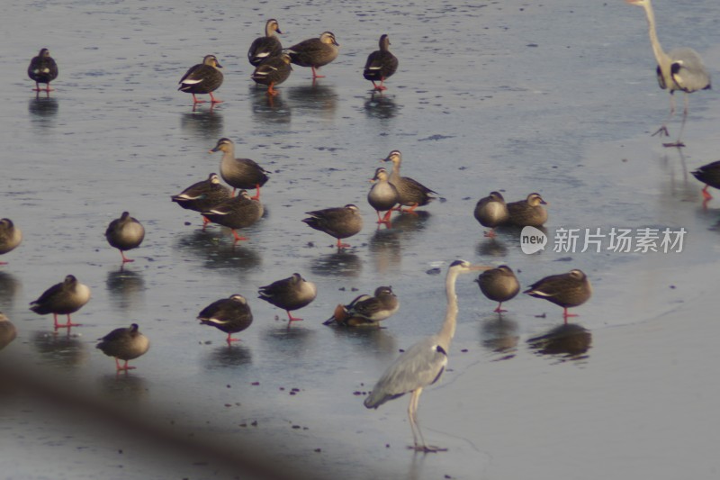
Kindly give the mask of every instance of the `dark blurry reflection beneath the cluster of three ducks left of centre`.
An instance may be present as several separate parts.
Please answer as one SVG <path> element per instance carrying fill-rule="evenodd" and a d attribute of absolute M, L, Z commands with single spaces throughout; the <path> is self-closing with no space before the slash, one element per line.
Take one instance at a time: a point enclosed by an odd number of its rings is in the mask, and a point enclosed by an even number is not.
<path fill-rule="evenodd" d="M 210 269 L 233 268 L 254 270 L 262 264 L 262 257 L 253 249 L 239 243 L 225 242 L 217 232 L 193 231 L 177 240 L 177 249 L 204 260 L 203 267 Z"/>

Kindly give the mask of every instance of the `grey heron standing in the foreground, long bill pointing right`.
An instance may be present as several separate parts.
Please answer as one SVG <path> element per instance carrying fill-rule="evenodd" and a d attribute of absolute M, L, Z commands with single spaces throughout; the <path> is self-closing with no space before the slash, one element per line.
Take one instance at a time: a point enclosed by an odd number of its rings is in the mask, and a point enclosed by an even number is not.
<path fill-rule="evenodd" d="M 471 265 L 465 260 L 455 260 L 447 269 L 446 295 L 447 306 L 445 320 L 440 331 L 405 350 L 373 387 L 373 391 L 365 398 L 365 407 L 377 408 L 383 403 L 410 394 L 408 418 L 415 442 L 414 449 L 422 452 L 445 451 L 447 448 L 433 447 L 425 443 L 418 423 L 418 402 L 422 389 L 433 385 L 443 374 L 447 365 L 447 352 L 450 342 L 455 336 L 457 319 L 457 295 L 455 280 L 463 273 L 489 270 L 491 267 Z"/>

